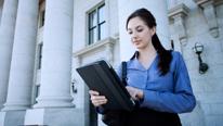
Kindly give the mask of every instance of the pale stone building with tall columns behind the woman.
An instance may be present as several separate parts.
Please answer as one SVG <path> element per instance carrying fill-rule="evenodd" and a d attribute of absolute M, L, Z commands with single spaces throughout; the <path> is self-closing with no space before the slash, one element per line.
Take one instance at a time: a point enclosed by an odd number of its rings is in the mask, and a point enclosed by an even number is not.
<path fill-rule="evenodd" d="M 223 0 L 0 0 L 0 126 L 103 126 L 76 67 L 128 60 L 124 23 L 139 8 L 186 62 L 197 106 L 180 115 L 183 126 L 221 126 Z M 207 72 L 198 71 L 196 42 Z"/>

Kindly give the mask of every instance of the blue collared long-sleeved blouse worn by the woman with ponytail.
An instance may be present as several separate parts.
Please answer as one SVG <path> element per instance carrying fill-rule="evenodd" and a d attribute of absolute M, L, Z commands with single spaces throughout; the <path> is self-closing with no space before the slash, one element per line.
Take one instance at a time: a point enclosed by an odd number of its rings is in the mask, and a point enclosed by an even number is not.
<path fill-rule="evenodd" d="M 120 66 L 117 74 L 121 75 Z M 172 51 L 170 71 L 163 76 L 158 70 L 158 54 L 147 70 L 136 58 L 130 60 L 127 62 L 127 78 L 128 86 L 144 92 L 141 108 L 184 113 L 191 112 L 196 105 L 187 68 L 179 52 Z"/>

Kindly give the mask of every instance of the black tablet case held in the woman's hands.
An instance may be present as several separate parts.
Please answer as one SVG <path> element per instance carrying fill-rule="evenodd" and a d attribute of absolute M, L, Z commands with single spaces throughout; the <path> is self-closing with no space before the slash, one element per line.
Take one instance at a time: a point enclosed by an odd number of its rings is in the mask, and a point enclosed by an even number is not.
<path fill-rule="evenodd" d="M 114 68 L 104 60 L 78 67 L 77 72 L 91 90 L 108 99 L 103 105 L 105 110 L 133 110 L 134 101 Z"/>

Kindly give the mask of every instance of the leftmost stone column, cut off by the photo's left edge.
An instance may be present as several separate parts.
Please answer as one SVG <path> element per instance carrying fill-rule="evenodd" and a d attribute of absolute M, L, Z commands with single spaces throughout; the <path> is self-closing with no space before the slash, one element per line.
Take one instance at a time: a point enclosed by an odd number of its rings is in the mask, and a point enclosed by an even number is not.
<path fill-rule="evenodd" d="M 4 0 L 0 25 L 0 109 L 6 101 L 17 0 Z"/>

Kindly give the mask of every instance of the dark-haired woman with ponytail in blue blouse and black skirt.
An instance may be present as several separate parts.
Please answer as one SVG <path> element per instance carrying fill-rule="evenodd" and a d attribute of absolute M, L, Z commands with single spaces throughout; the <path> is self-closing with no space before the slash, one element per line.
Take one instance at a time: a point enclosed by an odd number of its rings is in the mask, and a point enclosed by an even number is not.
<path fill-rule="evenodd" d="M 182 55 L 161 46 L 156 35 L 156 20 L 146 9 L 133 12 L 126 28 L 137 49 L 127 62 L 126 88 L 140 101 L 139 108 L 127 116 L 126 125 L 181 126 L 178 113 L 191 112 L 196 105 Z M 95 90 L 89 93 L 94 106 L 107 102 Z"/>

